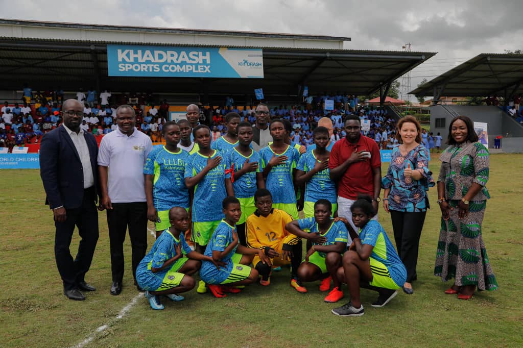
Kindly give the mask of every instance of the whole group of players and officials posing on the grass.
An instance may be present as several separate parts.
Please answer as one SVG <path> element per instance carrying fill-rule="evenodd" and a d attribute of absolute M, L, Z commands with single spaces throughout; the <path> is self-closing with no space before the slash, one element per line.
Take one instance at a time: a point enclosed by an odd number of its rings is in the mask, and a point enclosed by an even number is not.
<path fill-rule="evenodd" d="M 304 149 L 291 141 L 290 122 L 269 122 L 269 109 L 260 104 L 254 126 L 229 113 L 227 133 L 211 144 L 211 130 L 198 123 L 198 107 L 190 105 L 187 120 L 166 122 L 165 145 L 153 148 L 135 129 L 133 109 L 120 106 L 118 129 L 103 138 L 98 151 L 79 128 L 82 108 L 76 100 L 64 102 L 63 130 L 44 136 L 40 156 L 67 297 L 85 299 L 81 290 L 94 291 L 84 276 L 98 238 L 97 219 L 86 221 L 96 214 L 96 196 L 98 209 L 107 210 L 111 294 L 122 291 L 129 227 L 135 284 L 153 309 L 164 308 L 162 296 L 180 301 L 179 294 L 194 287 L 225 297 L 254 282 L 269 286 L 271 273 L 284 264 L 290 264 L 295 291 L 306 293 L 303 283 L 320 281 L 328 303 L 342 299 L 347 284 L 350 301 L 332 310 L 340 316 L 363 315 L 360 287 L 378 292 L 374 307 L 386 305 L 399 288 L 413 294 L 427 191 L 434 186 L 415 118 L 397 123 L 400 145 L 382 178 L 378 145 L 361 135 L 356 116 L 346 118 L 346 136 L 336 143 L 329 134 L 332 121 L 320 120 L 314 145 Z M 435 274 L 455 279 L 446 293 L 470 298 L 476 287 L 497 288 L 481 238 L 488 150 L 477 143 L 470 119 L 454 119 L 449 130 L 451 146 L 441 156 L 438 178 L 442 225 Z M 64 143 L 70 146 L 67 154 Z M 70 167 L 76 160 L 78 183 L 62 174 L 62 156 Z M 83 200 L 72 204 L 62 195 L 75 185 L 82 186 Z M 377 221 L 380 202 L 391 215 L 397 252 Z M 156 230 L 149 253 L 147 219 Z M 69 243 L 75 225 L 82 242 L 73 261 Z M 192 277 L 197 272 L 198 283 Z"/>

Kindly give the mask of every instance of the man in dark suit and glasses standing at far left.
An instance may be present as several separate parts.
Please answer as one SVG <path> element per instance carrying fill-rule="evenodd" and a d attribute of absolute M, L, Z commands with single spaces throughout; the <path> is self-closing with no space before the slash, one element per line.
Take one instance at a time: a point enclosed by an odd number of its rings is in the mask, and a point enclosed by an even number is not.
<path fill-rule="evenodd" d="M 66 100 L 63 124 L 45 134 L 40 145 L 40 177 L 56 227 L 56 266 L 64 295 L 73 300 L 85 300 L 81 290 L 96 290 L 84 277 L 98 241 L 98 146 L 95 137 L 80 128 L 83 110 L 77 100 Z M 69 247 L 75 226 L 82 239 L 73 261 Z"/>

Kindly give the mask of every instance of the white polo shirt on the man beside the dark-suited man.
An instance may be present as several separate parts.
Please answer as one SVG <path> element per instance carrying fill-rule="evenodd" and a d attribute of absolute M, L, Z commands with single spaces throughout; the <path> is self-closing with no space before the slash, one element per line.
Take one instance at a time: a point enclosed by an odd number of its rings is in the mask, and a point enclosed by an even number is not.
<path fill-rule="evenodd" d="M 136 127 L 127 136 L 118 128 L 106 134 L 98 150 L 98 165 L 109 167 L 108 193 L 112 203 L 146 202 L 143 166 L 151 138 Z"/>

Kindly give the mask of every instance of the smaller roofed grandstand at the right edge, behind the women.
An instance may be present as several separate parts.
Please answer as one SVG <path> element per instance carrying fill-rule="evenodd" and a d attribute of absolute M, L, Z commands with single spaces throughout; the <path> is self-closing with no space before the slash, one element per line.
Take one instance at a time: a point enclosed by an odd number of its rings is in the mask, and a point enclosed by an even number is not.
<path fill-rule="evenodd" d="M 523 152 L 523 54 L 479 54 L 410 94 L 433 97 L 430 130 L 443 138 L 452 118 L 467 115 L 488 125 L 491 150 L 497 144 L 503 152 Z M 463 96 L 462 102 L 447 102 Z"/>

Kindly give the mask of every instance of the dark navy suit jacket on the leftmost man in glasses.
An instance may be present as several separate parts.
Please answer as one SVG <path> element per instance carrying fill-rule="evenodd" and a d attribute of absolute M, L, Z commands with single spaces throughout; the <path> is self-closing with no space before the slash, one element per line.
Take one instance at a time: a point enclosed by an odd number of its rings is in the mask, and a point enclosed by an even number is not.
<path fill-rule="evenodd" d="M 98 145 L 93 134 L 84 132 L 95 180 L 95 203 L 99 192 Z M 46 190 L 46 204 L 56 208 L 78 208 L 84 197 L 84 172 L 80 156 L 64 126 L 44 134 L 40 145 L 40 177 Z"/>

